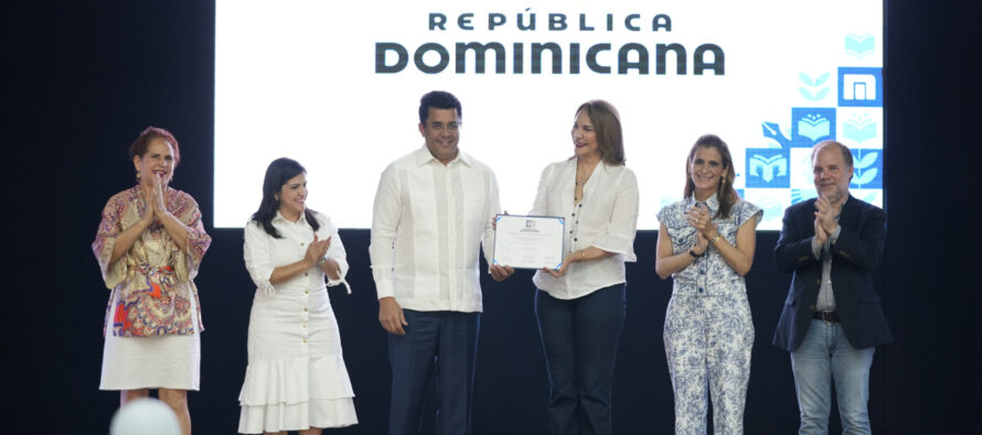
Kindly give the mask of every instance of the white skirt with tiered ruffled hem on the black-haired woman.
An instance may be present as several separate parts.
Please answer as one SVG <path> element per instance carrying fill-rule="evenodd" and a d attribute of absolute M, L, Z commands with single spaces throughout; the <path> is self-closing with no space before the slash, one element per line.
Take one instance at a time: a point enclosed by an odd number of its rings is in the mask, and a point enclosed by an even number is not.
<path fill-rule="evenodd" d="M 305 309 L 306 308 L 306 309 Z M 341 336 L 323 289 L 256 292 L 238 432 L 303 431 L 357 423 Z"/>

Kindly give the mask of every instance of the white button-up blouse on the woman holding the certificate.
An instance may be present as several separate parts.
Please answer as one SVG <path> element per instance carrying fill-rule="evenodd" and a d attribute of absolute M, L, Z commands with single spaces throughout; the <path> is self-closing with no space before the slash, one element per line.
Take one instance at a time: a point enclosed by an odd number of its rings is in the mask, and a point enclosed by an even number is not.
<path fill-rule="evenodd" d="M 574 207 L 576 161 L 570 159 L 545 167 L 529 214 L 566 218 L 567 254 L 595 247 L 613 255 L 569 264 L 566 274 L 559 278 L 535 272 L 532 278 L 535 286 L 561 300 L 585 296 L 625 282 L 625 262 L 637 261 L 638 177 L 626 166 L 600 162 L 584 185 L 583 200 Z"/>

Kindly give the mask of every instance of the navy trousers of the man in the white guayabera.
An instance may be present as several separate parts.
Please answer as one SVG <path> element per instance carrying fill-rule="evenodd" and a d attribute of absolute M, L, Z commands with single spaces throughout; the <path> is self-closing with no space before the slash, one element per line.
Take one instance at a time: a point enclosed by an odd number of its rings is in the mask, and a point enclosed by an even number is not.
<path fill-rule="evenodd" d="M 467 435 L 471 427 L 474 354 L 480 313 L 404 309 L 406 335 L 388 335 L 392 366 L 389 435 L 418 434 L 423 399 L 436 382 L 436 429 L 440 435 Z"/>

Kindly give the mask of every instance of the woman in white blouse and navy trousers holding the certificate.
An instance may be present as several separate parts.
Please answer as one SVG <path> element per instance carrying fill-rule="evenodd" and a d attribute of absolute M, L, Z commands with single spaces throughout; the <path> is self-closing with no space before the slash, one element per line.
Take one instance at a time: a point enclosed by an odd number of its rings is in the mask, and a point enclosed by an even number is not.
<path fill-rule="evenodd" d="M 565 257 L 532 282 L 549 377 L 553 434 L 610 434 L 611 385 L 625 322 L 625 261 L 636 261 L 638 180 L 625 166 L 617 109 L 576 110 L 574 155 L 542 172 L 533 216 L 566 220 Z"/>

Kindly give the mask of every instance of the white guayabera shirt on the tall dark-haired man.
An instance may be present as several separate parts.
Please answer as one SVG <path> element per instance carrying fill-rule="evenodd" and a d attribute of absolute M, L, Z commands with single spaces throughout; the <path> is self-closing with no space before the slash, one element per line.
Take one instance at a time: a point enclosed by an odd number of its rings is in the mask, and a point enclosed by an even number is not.
<path fill-rule="evenodd" d="M 369 254 L 378 298 L 406 309 L 483 309 L 480 253 L 494 252 L 498 180 L 485 164 L 458 151 L 444 165 L 426 146 L 382 173 Z"/>

